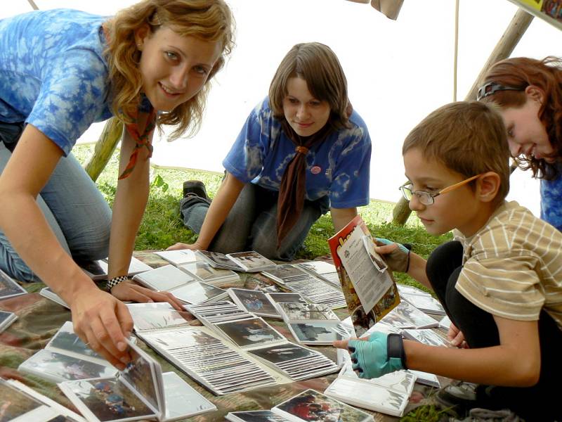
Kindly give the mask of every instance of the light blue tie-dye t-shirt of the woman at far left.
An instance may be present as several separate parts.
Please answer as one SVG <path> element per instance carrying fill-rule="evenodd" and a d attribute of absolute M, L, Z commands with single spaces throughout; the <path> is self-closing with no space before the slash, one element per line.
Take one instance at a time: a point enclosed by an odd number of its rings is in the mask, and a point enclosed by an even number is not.
<path fill-rule="evenodd" d="M 105 20 L 67 9 L 0 20 L 0 121 L 32 124 L 67 155 L 111 117 Z"/>

